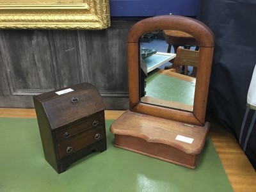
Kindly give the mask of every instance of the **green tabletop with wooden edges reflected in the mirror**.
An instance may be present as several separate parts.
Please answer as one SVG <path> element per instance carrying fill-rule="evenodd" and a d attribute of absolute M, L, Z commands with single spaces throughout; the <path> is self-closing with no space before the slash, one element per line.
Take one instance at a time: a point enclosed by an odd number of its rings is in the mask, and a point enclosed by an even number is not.
<path fill-rule="evenodd" d="M 194 77 L 156 69 L 148 73 L 145 81 L 146 97 L 141 98 L 141 101 L 193 111 L 196 82 Z"/>

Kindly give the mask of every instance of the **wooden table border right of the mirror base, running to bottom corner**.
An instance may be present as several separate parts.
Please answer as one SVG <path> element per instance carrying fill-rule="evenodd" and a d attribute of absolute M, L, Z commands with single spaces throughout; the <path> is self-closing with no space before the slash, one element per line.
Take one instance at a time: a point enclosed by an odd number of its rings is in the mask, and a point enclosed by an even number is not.
<path fill-rule="evenodd" d="M 256 172 L 236 138 L 209 115 L 210 136 L 234 191 L 256 191 Z"/>

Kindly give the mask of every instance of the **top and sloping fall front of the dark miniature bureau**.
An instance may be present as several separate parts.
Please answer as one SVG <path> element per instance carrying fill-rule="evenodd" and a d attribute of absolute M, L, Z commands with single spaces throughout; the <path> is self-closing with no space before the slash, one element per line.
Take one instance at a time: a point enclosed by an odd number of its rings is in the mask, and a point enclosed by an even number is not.
<path fill-rule="evenodd" d="M 59 92 L 61 95 L 58 95 Z M 70 124 L 105 109 L 99 90 L 88 83 L 44 93 L 35 97 L 36 99 L 42 103 L 51 129 Z"/>

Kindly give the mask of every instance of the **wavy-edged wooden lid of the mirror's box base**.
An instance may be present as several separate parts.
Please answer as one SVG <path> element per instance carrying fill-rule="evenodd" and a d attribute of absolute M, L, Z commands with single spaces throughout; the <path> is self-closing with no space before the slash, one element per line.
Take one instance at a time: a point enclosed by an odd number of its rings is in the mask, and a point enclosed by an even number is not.
<path fill-rule="evenodd" d="M 204 147 L 209 124 L 200 127 L 127 110 L 111 125 L 110 131 L 115 135 L 132 136 L 147 143 L 161 143 L 195 155 L 200 154 Z M 191 138 L 193 143 L 180 142 L 176 140 L 177 135 Z"/>

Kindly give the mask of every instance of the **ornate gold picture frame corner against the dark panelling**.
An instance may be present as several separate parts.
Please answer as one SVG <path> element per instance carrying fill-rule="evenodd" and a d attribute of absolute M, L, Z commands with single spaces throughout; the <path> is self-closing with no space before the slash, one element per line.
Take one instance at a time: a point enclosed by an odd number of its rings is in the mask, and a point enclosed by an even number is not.
<path fill-rule="evenodd" d="M 109 0 L 0 0 L 0 29 L 106 29 Z"/>

